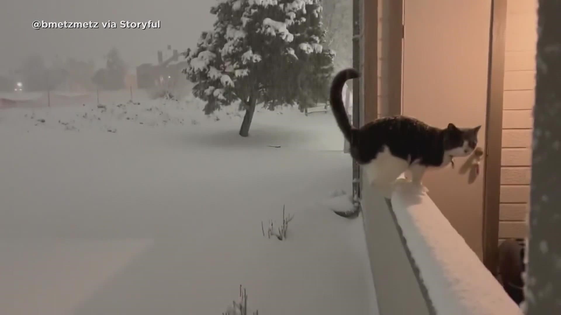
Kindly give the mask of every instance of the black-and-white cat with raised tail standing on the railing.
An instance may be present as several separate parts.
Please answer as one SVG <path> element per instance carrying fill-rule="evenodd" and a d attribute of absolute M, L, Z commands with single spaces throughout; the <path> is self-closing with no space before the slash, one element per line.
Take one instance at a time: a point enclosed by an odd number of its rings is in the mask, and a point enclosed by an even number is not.
<path fill-rule="evenodd" d="M 424 192 L 422 177 L 429 168 L 443 168 L 454 157 L 470 155 L 477 146 L 475 128 L 458 128 L 453 123 L 441 129 L 403 115 L 375 119 L 360 128 L 351 126 L 341 91 L 347 80 L 358 78 L 353 68 L 339 71 L 330 88 L 330 104 L 337 125 L 350 143 L 352 158 L 364 169 L 368 183 L 390 198 L 392 184 L 407 170 L 411 182 Z"/>

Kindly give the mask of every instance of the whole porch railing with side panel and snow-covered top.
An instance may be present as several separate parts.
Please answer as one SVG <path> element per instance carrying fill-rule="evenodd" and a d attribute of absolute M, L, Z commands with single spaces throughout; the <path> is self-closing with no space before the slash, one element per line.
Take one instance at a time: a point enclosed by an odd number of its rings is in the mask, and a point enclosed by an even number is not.
<path fill-rule="evenodd" d="M 361 203 L 380 315 L 522 314 L 426 193 L 364 186 Z"/>

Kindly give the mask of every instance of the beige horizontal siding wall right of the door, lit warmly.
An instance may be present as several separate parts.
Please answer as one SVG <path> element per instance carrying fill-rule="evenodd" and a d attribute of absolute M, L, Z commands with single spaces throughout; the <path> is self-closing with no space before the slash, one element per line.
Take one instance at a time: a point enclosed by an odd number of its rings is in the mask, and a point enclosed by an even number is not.
<path fill-rule="evenodd" d="M 537 0 L 508 0 L 499 239 L 526 237 L 530 198 Z"/>

